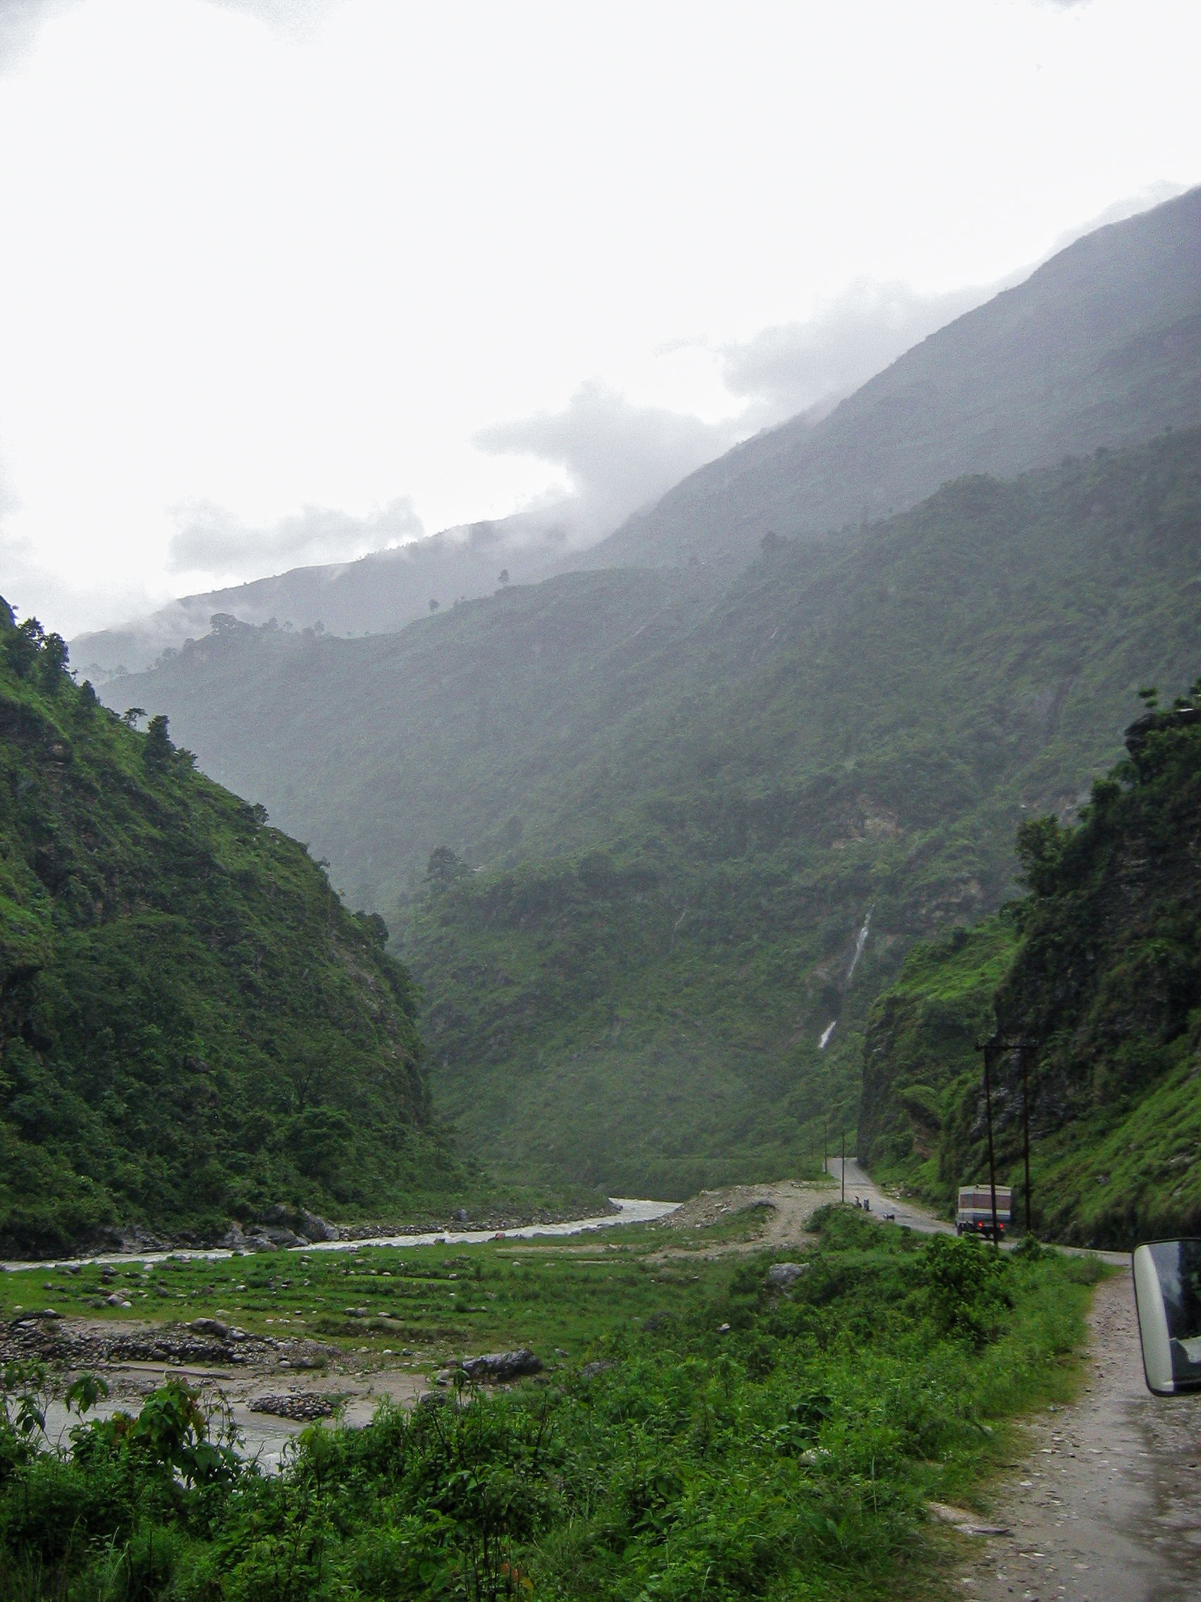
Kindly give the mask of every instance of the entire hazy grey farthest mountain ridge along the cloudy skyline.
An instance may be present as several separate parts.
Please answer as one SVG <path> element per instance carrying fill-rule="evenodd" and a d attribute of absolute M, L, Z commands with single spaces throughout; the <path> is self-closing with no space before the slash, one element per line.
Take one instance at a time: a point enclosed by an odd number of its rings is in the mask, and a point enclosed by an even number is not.
<path fill-rule="evenodd" d="M 572 567 L 697 562 L 724 585 L 767 530 L 813 538 L 913 506 L 967 473 L 1022 473 L 1201 425 L 1199 261 L 1195 189 L 1076 240 L 828 417 L 802 413 L 745 441 L 588 551 L 572 549 L 581 530 L 567 501 L 184 596 L 123 628 L 82 634 L 74 660 L 98 682 L 141 673 L 200 636 L 213 614 L 285 628 L 320 620 L 347 636 L 396 631 L 431 598 L 445 607 L 490 594 L 501 570 L 532 583 Z"/>

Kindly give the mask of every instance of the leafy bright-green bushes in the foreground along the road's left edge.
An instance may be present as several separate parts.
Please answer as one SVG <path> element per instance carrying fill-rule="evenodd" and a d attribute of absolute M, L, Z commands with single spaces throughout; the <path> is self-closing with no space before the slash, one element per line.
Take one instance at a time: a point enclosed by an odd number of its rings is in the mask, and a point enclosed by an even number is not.
<path fill-rule="evenodd" d="M 919 1243 L 844 1208 L 817 1227 L 788 1294 L 767 1258 L 740 1259 L 717 1294 L 615 1333 L 605 1367 L 306 1431 L 275 1479 L 235 1467 L 178 1384 L 136 1423 L 38 1450 L 37 1379 L 22 1410 L 14 1375 L 0 1591 L 929 1597 L 926 1501 L 962 1501 L 1001 1456 L 998 1426 L 1070 1387 L 1099 1269 Z"/>

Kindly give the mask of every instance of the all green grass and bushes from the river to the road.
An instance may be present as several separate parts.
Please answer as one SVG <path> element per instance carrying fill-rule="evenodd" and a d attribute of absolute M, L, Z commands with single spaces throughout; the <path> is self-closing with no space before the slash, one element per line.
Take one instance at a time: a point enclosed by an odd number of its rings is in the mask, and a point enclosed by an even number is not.
<path fill-rule="evenodd" d="M 953 1548 L 927 1504 L 986 1501 L 1012 1466 L 1014 1419 L 1071 1397 L 1103 1269 L 922 1240 L 842 1206 L 786 1253 L 751 1240 L 661 1256 L 682 1235 L 729 1243 L 759 1222 L 122 1270 L 114 1283 L 149 1318 L 226 1314 L 426 1371 L 528 1344 L 546 1368 L 304 1431 L 275 1477 L 213 1437 L 178 1379 L 138 1419 L 82 1423 L 66 1453 L 38 1450 L 19 1411 L 37 1376 L 10 1370 L 0 1594 L 950 1597 Z M 785 1256 L 805 1269 L 781 1291 L 767 1269 Z M 94 1269 L 0 1288 L 10 1315 L 18 1290 L 112 1315 L 93 1306 Z"/>

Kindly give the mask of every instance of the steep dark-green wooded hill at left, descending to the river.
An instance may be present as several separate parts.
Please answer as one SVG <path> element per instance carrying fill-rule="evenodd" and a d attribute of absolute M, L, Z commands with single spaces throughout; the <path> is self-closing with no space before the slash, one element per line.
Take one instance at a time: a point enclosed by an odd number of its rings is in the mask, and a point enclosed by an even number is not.
<path fill-rule="evenodd" d="M 461 1184 L 383 921 L 64 657 L 0 604 L 0 1250 Z"/>

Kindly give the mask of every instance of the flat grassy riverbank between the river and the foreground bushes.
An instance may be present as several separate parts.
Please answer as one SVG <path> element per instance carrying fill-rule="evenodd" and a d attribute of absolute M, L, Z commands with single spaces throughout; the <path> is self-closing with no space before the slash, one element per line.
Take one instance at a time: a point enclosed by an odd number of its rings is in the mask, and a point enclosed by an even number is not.
<path fill-rule="evenodd" d="M 738 1214 L 703 1240 L 749 1240 L 762 1214 Z M 727 1262 L 658 1264 L 665 1245 L 700 1235 L 621 1226 L 584 1237 L 541 1237 L 477 1246 L 370 1246 L 355 1251 L 259 1253 L 216 1261 L 96 1264 L 77 1274 L 0 1275 L 0 1317 L 51 1307 L 72 1318 L 151 1323 L 215 1317 L 248 1334 L 309 1336 L 368 1360 L 407 1367 L 461 1352 L 530 1346 L 581 1357 L 626 1325 L 690 1307 L 729 1277 Z M 112 1307 L 120 1294 L 130 1307 Z"/>

